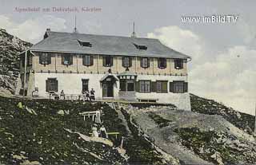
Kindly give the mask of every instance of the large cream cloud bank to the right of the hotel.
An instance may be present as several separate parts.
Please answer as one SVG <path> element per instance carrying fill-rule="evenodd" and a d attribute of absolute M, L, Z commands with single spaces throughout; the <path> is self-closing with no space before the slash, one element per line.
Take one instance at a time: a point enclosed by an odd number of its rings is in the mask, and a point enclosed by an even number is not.
<path fill-rule="evenodd" d="M 189 69 L 190 92 L 218 100 L 241 112 L 254 114 L 256 101 L 256 49 L 237 45 L 214 52 L 190 30 L 166 26 L 148 33 L 172 49 L 192 56 Z M 182 45 L 183 43 L 183 45 Z"/>

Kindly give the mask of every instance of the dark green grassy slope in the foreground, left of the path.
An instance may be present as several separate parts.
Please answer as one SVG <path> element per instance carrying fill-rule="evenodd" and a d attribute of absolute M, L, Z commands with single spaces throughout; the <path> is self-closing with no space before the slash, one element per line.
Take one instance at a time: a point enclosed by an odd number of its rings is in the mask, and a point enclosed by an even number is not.
<path fill-rule="evenodd" d="M 107 132 L 120 133 L 117 138 L 90 137 L 94 122 L 79 113 L 98 109 Z M 0 139 L 0 164 L 167 164 L 142 137 L 127 136 L 118 113 L 100 102 L 0 96 Z"/>

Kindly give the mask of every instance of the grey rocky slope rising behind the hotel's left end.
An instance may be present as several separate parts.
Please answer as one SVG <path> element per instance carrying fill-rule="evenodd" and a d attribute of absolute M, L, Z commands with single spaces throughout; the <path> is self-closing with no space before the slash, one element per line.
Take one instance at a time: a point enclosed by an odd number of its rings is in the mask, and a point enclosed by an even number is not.
<path fill-rule="evenodd" d="M 0 88 L 14 92 L 15 81 L 18 77 L 19 57 L 32 44 L 22 41 L 0 29 Z"/>

